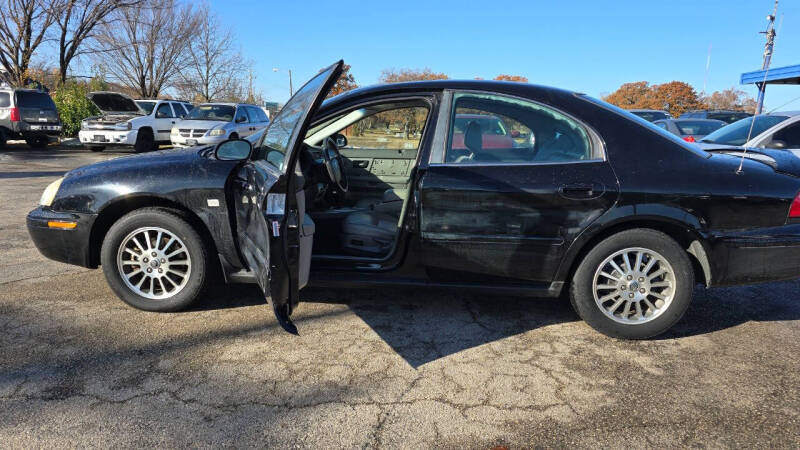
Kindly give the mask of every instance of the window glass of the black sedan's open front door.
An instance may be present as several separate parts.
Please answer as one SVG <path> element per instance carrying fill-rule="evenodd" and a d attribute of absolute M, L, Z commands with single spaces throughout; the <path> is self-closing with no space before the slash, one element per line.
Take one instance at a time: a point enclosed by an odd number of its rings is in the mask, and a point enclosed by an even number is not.
<path fill-rule="evenodd" d="M 286 165 L 286 155 L 293 137 L 300 132 L 304 118 L 314 104 L 314 100 L 330 78 L 337 64 L 330 66 L 312 78 L 280 110 L 270 122 L 261 145 L 256 148 L 254 158 L 266 159 L 280 170 Z"/>

